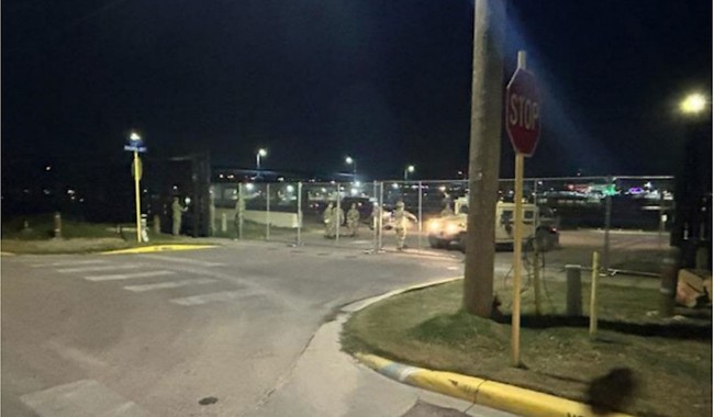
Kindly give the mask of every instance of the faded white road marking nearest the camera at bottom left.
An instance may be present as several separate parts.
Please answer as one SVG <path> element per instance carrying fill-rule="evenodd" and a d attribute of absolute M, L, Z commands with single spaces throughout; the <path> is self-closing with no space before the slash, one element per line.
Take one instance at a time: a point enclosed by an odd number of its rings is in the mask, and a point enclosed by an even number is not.
<path fill-rule="evenodd" d="M 22 395 L 41 417 L 150 417 L 150 414 L 93 380 Z"/>

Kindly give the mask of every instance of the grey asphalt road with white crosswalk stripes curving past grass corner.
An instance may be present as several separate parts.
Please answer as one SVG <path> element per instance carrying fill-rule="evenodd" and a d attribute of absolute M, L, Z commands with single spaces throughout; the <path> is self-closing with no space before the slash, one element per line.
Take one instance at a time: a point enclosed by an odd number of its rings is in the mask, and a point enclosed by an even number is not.
<path fill-rule="evenodd" d="M 339 352 L 339 306 L 459 257 L 281 244 L 2 258 L 8 416 L 450 416 Z M 326 324 L 326 325 L 325 325 Z M 426 402 L 426 403 L 425 403 Z M 469 415 L 502 416 L 470 408 Z"/>

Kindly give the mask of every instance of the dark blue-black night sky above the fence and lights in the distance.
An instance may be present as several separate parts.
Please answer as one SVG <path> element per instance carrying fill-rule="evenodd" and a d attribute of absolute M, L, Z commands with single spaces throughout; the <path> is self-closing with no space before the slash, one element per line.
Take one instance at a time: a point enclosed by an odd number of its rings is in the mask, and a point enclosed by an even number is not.
<path fill-rule="evenodd" d="M 544 100 L 526 174 L 676 173 L 678 101 L 711 97 L 711 1 L 506 4 L 503 83 L 526 49 Z M 156 158 L 455 178 L 472 21 L 468 0 L 5 0 L 2 162 L 127 159 L 135 128 Z M 504 133 L 502 177 L 512 158 Z"/>

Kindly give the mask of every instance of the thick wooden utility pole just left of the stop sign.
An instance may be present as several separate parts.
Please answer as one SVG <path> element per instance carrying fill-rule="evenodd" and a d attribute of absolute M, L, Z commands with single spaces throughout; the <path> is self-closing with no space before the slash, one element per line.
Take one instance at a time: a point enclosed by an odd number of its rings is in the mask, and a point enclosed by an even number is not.
<path fill-rule="evenodd" d="M 503 119 L 503 0 L 476 0 L 464 308 L 490 317 Z"/>

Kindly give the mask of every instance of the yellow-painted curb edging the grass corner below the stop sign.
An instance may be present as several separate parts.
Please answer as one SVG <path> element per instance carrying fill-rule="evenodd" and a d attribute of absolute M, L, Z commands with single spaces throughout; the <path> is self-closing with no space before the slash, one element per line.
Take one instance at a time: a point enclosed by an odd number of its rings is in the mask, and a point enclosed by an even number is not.
<path fill-rule="evenodd" d="M 629 417 L 620 413 L 595 414 L 588 404 L 480 377 L 408 367 L 375 354 L 355 357 L 377 372 L 410 385 L 521 416 Z"/>

